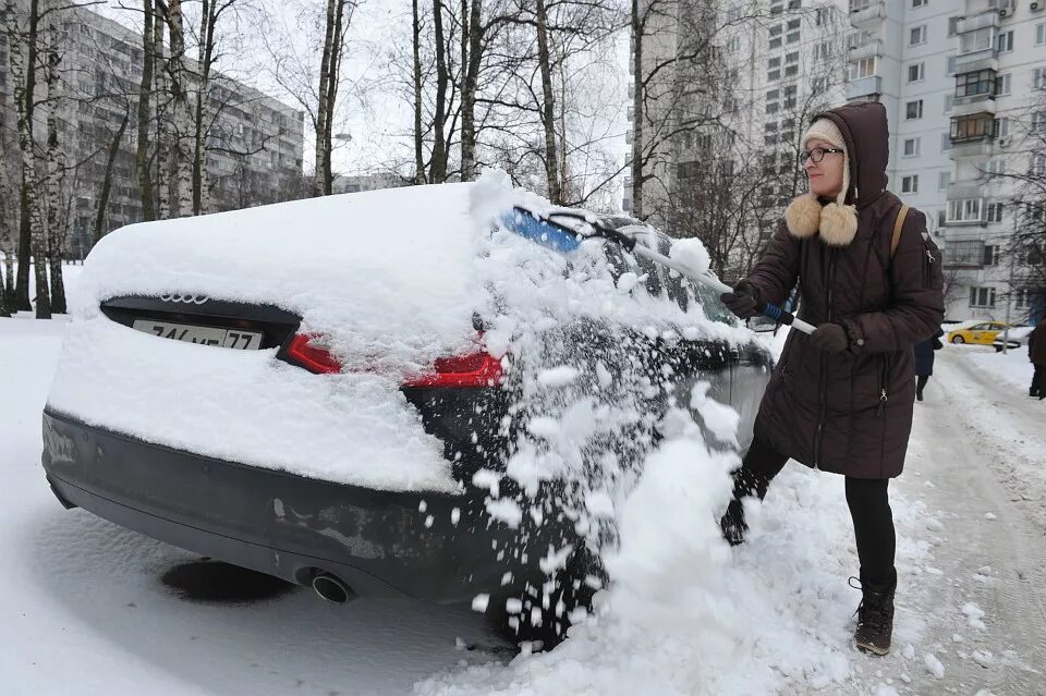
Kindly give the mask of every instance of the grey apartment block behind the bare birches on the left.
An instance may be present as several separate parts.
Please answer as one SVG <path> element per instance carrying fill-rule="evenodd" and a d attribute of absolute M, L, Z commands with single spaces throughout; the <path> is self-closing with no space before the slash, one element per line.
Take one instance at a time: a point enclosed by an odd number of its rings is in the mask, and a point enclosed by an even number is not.
<path fill-rule="evenodd" d="M 25 3 L 20 3 L 24 9 Z M 107 154 L 125 117 L 127 125 L 113 161 L 104 216 L 110 231 L 142 219 L 137 147 L 137 88 L 142 77 L 142 37 L 88 8 L 60 11 L 63 37 L 60 74 L 63 99 L 57 113 L 59 142 L 66 163 L 70 200 L 70 249 L 78 257 L 89 247 L 107 170 Z M 8 35 L 0 33 L 0 129 L 7 150 L 16 154 L 16 114 L 9 74 Z M 190 70 L 194 70 L 190 65 Z M 38 99 L 42 77 L 37 74 Z M 209 207 L 205 212 L 242 208 L 301 196 L 304 112 L 222 75 L 212 78 L 207 154 Z M 47 108 L 36 109 L 34 130 L 46 138 Z"/>

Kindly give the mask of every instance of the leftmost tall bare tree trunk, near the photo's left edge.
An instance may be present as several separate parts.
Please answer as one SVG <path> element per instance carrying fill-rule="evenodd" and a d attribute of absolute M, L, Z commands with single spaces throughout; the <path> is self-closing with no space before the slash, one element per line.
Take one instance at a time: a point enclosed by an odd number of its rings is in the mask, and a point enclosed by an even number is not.
<path fill-rule="evenodd" d="M 19 270 L 15 282 L 15 307 L 20 312 L 33 309 L 29 302 L 29 256 L 33 244 L 33 200 L 35 197 L 33 163 L 33 111 L 36 106 L 37 25 L 39 0 L 28 2 L 28 30 L 23 34 L 17 20 L 14 0 L 7 2 L 8 53 L 11 77 L 14 83 L 14 101 L 17 111 L 19 148 L 22 151 L 22 181 L 19 192 Z M 24 51 L 24 52 L 23 52 Z M 29 166 L 26 167 L 26 157 Z"/>

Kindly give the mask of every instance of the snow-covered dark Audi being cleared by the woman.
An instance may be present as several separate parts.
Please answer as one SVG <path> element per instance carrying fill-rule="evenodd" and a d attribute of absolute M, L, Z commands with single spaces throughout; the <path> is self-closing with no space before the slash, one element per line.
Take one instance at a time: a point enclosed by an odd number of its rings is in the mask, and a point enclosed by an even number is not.
<path fill-rule="evenodd" d="M 691 392 L 751 432 L 770 357 L 678 273 L 605 240 L 536 243 L 563 232 L 547 208 L 487 176 L 113 232 L 84 265 L 44 413 L 54 494 L 336 601 L 509 596 L 534 586 L 543 540 L 559 551 L 540 572 L 580 577 L 568 540 L 588 513 L 545 508 L 528 562 L 506 549 L 542 513 L 521 523 L 506 489 L 556 438 L 649 450 Z M 586 376 L 628 407 L 564 402 Z"/>

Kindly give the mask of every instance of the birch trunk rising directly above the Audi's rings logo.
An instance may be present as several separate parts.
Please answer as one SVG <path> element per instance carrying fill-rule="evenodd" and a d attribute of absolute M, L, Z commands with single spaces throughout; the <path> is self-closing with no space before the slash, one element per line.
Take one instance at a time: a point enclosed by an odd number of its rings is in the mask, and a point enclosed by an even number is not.
<path fill-rule="evenodd" d="M 193 213 L 193 146 L 190 136 L 193 130 L 192 110 L 188 106 L 188 71 L 185 70 L 185 30 L 182 0 L 171 0 L 168 5 L 167 25 L 171 34 L 171 57 L 168 60 L 168 76 L 171 87 L 171 109 L 174 121 L 174 142 L 171 148 L 174 164 L 174 215 Z"/>

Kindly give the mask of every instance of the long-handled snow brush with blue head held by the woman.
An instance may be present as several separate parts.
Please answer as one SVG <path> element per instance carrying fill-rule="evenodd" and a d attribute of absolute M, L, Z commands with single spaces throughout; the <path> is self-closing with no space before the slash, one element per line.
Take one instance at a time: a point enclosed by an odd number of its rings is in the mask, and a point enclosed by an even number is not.
<path fill-rule="evenodd" d="M 568 227 L 556 222 L 556 218 L 565 218 L 584 224 L 580 229 Z M 708 269 L 707 258 L 704 259 L 704 262 L 698 261 L 693 265 L 669 258 L 664 254 L 658 254 L 648 246 L 636 243 L 635 239 L 623 234 L 619 230 L 615 230 L 592 213 L 572 209 L 554 209 L 542 219 L 536 213 L 518 207 L 513 213 L 504 216 L 502 222 L 516 234 L 534 240 L 557 252 L 572 252 L 581 245 L 583 239 L 601 237 L 615 244 L 620 244 L 625 251 L 632 254 L 647 258 L 665 268 L 670 268 L 684 278 L 689 278 L 695 283 L 701 283 L 719 294 L 733 292 L 733 288 L 711 273 Z M 756 312 L 779 323 L 786 323 L 799 329 L 803 333 L 813 333 L 816 329 L 816 327 L 796 318 L 791 312 L 786 312 L 768 302 L 761 302 L 756 306 Z"/>

